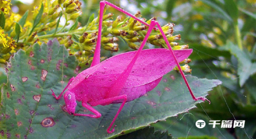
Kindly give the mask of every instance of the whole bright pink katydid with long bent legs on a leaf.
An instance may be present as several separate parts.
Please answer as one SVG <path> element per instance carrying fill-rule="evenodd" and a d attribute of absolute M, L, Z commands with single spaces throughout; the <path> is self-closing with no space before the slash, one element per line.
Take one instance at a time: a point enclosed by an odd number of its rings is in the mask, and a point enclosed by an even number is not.
<path fill-rule="evenodd" d="M 149 27 L 138 51 L 122 53 L 100 63 L 102 17 L 103 9 L 106 4 Z M 96 111 L 92 106 L 122 103 L 107 129 L 108 133 L 113 133 L 116 125 L 113 126 L 112 130 L 110 129 L 125 103 L 133 101 L 148 91 L 153 90 L 161 81 L 162 76 L 170 72 L 175 65 L 178 66 L 193 100 L 207 100 L 205 97 L 195 97 L 193 95 L 188 81 L 179 65 L 179 62 L 186 59 L 192 53 L 192 49 L 172 51 L 158 22 L 152 20 L 150 25 L 148 25 L 139 18 L 107 1 L 100 2 L 99 18 L 99 34 L 91 67 L 82 71 L 76 77 L 72 77 L 58 97 L 56 97 L 55 93 L 51 90 L 52 95 L 59 100 L 67 89 L 64 94 L 64 100 L 66 110 L 70 115 L 99 118 L 101 117 L 100 112 Z M 169 49 L 157 48 L 143 50 L 152 29 L 157 29 L 155 26 L 160 30 Z M 82 101 L 82 106 L 94 113 L 94 115 L 75 113 L 76 101 Z"/>

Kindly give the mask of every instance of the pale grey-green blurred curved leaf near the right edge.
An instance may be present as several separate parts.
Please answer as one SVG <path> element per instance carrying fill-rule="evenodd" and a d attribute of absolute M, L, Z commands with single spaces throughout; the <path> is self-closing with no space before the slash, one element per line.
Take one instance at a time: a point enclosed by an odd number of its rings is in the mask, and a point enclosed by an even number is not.
<path fill-rule="evenodd" d="M 224 49 L 228 50 L 233 54 L 239 61 L 237 74 L 239 77 L 239 84 L 243 86 L 246 80 L 256 73 L 256 63 L 251 62 L 249 54 L 242 51 L 237 45 L 228 41 Z"/>

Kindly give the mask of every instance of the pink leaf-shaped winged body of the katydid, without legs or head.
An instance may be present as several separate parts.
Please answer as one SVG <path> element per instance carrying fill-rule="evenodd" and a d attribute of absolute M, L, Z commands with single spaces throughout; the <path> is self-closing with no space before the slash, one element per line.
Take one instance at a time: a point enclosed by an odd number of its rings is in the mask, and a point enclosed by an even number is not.
<path fill-rule="evenodd" d="M 126 69 L 137 51 L 113 56 L 98 65 L 78 74 L 68 86 L 68 90 L 75 94 L 77 101 L 100 101 L 110 98 L 109 90 L 117 78 Z M 174 51 L 179 62 L 186 59 L 192 49 Z M 148 57 L 151 57 L 150 60 Z M 169 49 L 145 49 L 139 55 L 119 95 L 127 95 L 127 102 L 135 100 L 148 91 L 153 90 L 161 77 L 176 66 Z M 117 93 L 117 92 L 116 92 Z M 117 100 L 110 103 L 121 103 Z M 102 104 L 102 105 L 108 105 Z"/>

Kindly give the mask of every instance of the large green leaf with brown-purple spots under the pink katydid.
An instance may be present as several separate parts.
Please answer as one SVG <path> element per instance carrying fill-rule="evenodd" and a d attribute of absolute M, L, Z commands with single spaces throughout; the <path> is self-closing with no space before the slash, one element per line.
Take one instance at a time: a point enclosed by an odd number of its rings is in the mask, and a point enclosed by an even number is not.
<path fill-rule="evenodd" d="M 107 134 L 120 104 L 95 106 L 95 110 L 102 114 L 100 118 L 74 116 L 61 108 L 65 103 L 63 98 L 57 101 L 51 95 L 50 89 L 57 94 L 63 91 L 69 78 L 75 76 L 79 69 L 75 56 L 69 56 L 57 39 L 41 47 L 35 44 L 27 52 L 17 52 L 10 63 L 8 83 L 2 87 L 3 105 L 0 110 L 4 115 L 0 125 L 5 136 L 8 133 L 12 137 L 19 134 L 28 139 L 113 138 L 187 112 L 202 102 L 193 101 L 178 72 L 170 72 L 163 76 L 154 90 L 127 102 L 114 123 L 117 125 L 115 132 Z M 212 87 L 221 83 L 193 76 L 187 76 L 187 79 L 196 96 L 206 96 Z M 77 103 L 76 113 L 90 113 L 81 102 Z M 44 127 L 46 125 L 51 126 Z"/>

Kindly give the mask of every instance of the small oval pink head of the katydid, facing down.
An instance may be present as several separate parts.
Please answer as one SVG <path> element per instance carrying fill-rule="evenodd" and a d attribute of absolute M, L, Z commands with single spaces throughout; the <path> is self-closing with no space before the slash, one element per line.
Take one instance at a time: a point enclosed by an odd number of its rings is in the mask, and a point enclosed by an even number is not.
<path fill-rule="evenodd" d="M 75 94 L 67 91 L 64 95 L 64 100 L 66 103 L 66 110 L 69 114 L 74 114 L 76 110 L 76 97 Z"/>

